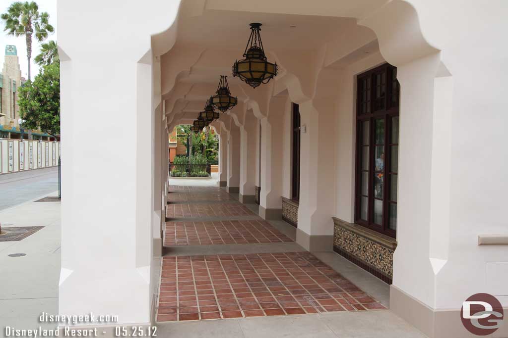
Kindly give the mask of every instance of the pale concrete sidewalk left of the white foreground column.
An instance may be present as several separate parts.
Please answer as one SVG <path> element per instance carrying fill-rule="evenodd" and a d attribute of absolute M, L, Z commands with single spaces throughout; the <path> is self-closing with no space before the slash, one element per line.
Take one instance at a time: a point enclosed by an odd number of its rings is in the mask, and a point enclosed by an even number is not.
<path fill-rule="evenodd" d="M 58 192 L 46 194 L 57 196 Z M 58 313 L 60 275 L 60 202 L 35 202 L 44 196 L 0 211 L 3 229 L 42 226 L 21 241 L 0 242 L 0 330 L 54 328 L 39 323 L 42 312 Z M 10 257 L 12 253 L 25 256 Z"/>

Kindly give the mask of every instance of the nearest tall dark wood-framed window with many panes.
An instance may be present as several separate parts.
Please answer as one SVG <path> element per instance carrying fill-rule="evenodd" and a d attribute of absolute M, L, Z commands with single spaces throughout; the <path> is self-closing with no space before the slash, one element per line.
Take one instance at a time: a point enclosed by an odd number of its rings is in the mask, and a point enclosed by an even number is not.
<path fill-rule="evenodd" d="M 385 63 L 361 73 L 357 76 L 356 86 L 355 223 L 395 238 L 396 230 L 390 228 L 389 222 L 395 221 L 396 224 L 400 92 L 397 81 L 397 68 Z M 384 136 L 377 138 L 378 141 L 382 139 L 383 143 L 376 143 L 375 141 L 375 121 L 379 122 L 379 126 L 384 123 Z M 381 121 L 383 123 L 380 123 Z M 392 128 L 392 123 L 395 126 L 395 122 L 397 123 L 397 130 Z M 364 138 L 365 127 L 368 127 L 366 133 L 368 140 Z M 379 156 L 376 159 L 376 147 L 381 149 L 383 157 Z M 368 160 L 364 161 L 366 154 L 368 154 Z M 397 166 L 393 166 L 392 158 Z M 378 165 L 378 161 L 382 163 L 382 169 L 379 169 L 381 166 Z M 364 163 L 368 163 L 368 165 L 366 166 Z M 367 175 L 367 190 L 365 185 L 363 185 L 364 189 L 362 190 L 362 177 L 365 177 L 365 175 Z M 374 184 L 378 183 L 374 182 L 375 175 L 377 175 L 376 180 L 382 182 L 382 184 L 376 185 L 377 187 L 382 186 L 382 194 L 377 193 L 377 195 L 374 195 Z M 395 195 L 390 194 L 392 183 L 395 184 Z M 366 195 L 365 192 L 367 192 Z M 364 202 L 367 199 L 367 217 L 362 217 L 362 199 Z M 374 200 L 383 201 L 381 222 L 374 221 Z M 390 206 L 395 208 L 395 212 Z M 365 209 L 363 216 L 365 216 Z"/>

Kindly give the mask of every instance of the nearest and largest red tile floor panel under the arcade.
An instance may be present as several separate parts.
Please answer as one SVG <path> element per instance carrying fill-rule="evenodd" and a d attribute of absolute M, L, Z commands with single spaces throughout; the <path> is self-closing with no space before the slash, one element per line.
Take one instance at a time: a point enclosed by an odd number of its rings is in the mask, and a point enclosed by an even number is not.
<path fill-rule="evenodd" d="M 309 252 L 164 257 L 157 321 L 385 309 Z"/>

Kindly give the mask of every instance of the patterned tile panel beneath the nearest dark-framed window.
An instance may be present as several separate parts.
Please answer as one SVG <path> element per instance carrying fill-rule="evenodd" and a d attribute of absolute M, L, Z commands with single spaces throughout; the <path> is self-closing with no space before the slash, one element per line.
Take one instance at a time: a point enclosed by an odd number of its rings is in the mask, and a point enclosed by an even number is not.
<path fill-rule="evenodd" d="M 282 205 L 282 214 L 283 214 Z M 394 238 L 333 217 L 333 249 L 377 278 L 392 284 Z"/>

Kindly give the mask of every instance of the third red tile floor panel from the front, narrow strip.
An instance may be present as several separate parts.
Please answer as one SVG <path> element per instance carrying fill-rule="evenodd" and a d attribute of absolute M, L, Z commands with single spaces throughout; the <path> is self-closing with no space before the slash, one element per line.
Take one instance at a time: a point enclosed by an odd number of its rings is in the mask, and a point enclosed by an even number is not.
<path fill-rule="evenodd" d="M 238 203 L 196 203 L 169 204 L 166 217 L 219 217 L 219 216 L 248 216 L 254 215 L 246 206 Z"/>

